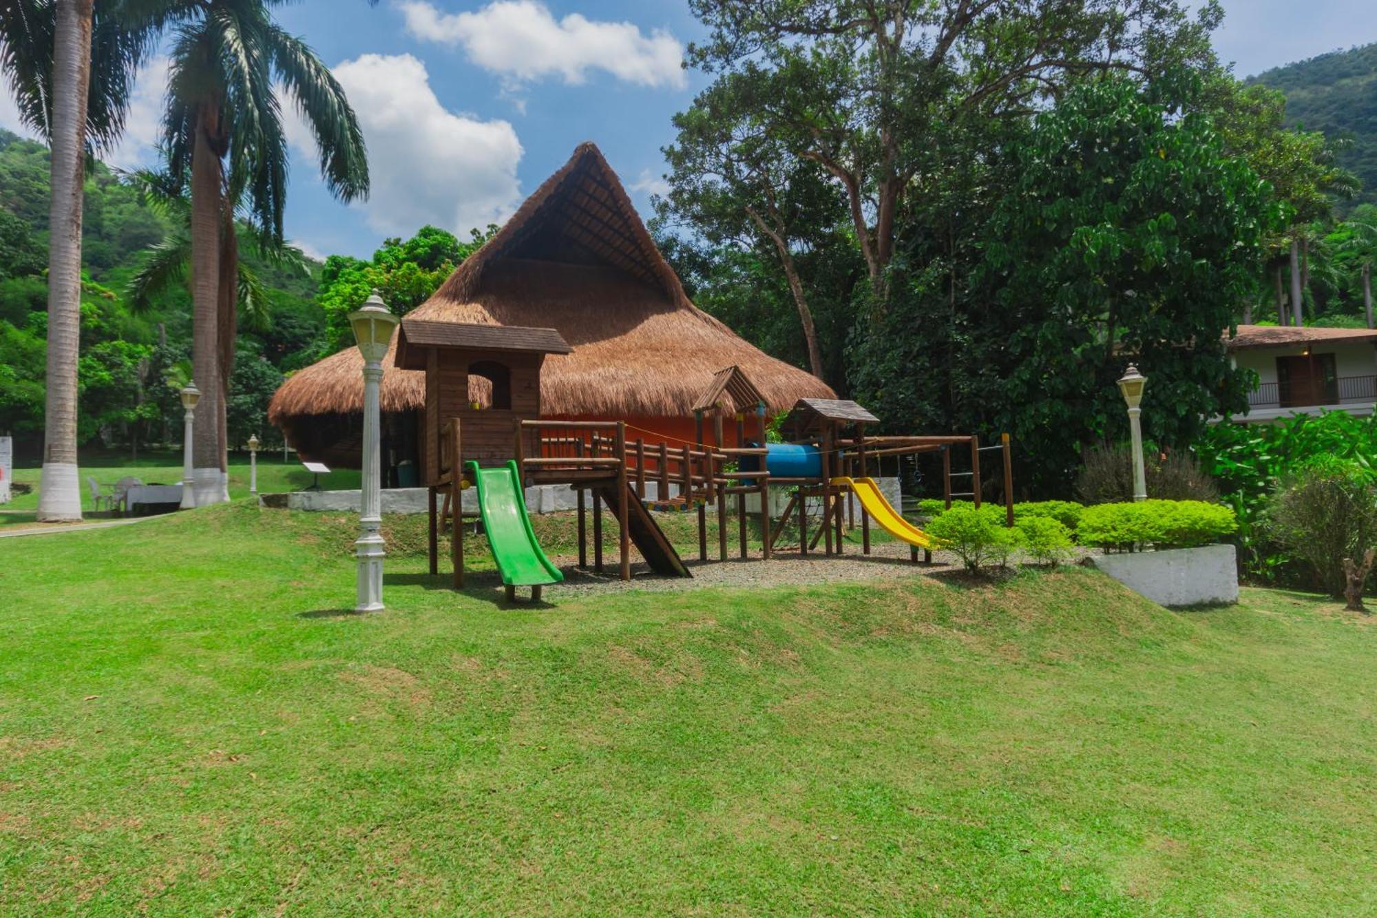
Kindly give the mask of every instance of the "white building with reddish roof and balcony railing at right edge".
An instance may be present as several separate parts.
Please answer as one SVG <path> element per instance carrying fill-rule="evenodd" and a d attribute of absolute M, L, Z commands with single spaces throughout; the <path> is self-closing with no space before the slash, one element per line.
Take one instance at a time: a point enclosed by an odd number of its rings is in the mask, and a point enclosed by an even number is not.
<path fill-rule="evenodd" d="M 1246 415 L 1267 422 L 1299 414 L 1370 415 L 1377 402 L 1377 329 L 1239 325 L 1227 342 L 1235 365 L 1257 374 Z"/>

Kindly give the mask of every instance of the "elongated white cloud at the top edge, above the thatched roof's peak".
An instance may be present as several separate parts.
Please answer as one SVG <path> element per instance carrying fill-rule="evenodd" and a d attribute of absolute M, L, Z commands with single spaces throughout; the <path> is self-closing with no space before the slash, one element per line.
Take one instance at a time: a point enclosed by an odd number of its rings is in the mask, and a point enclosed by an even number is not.
<path fill-rule="evenodd" d="M 577 12 L 556 21 L 537 0 L 493 0 L 453 14 L 425 0 L 398 7 L 417 39 L 463 45 L 474 63 L 516 80 L 559 74 L 582 83 L 589 69 L 599 69 L 639 85 L 687 85 L 683 45 L 664 29 L 647 36 L 632 22 L 593 22 Z"/>

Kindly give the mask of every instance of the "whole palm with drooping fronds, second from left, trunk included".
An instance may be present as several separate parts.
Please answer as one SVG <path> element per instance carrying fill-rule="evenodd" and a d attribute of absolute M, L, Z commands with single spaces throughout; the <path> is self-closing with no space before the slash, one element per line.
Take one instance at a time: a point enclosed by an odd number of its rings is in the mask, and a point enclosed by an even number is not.
<path fill-rule="evenodd" d="M 197 503 L 227 499 L 224 485 L 224 368 L 233 354 L 233 317 L 220 303 L 238 298 L 222 285 L 237 272 L 238 234 L 226 200 L 245 203 L 255 226 L 282 241 L 288 152 L 274 83 L 315 135 L 326 186 L 348 201 L 368 193 L 364 135 L 329 69 L 269 15 L 284 0 L 180 0 L 168 80 L 164 138 L 168 172 L 190 175 L 191 363 L 202 396 L 193 459 Z M 224 160 L 230 168 L 226 175 Z"/>

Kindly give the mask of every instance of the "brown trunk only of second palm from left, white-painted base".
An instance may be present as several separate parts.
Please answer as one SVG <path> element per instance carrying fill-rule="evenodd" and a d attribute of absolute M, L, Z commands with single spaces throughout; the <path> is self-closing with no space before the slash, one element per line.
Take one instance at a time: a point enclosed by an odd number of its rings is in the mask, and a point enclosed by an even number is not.
<path fill-rule="evenodd" d="M 191 152 L 191 375 L 201 390 L 191 438 L 197 506 L 220 503 L 220 156 L 209 132 L 218 113 L 202 106 Z"/>

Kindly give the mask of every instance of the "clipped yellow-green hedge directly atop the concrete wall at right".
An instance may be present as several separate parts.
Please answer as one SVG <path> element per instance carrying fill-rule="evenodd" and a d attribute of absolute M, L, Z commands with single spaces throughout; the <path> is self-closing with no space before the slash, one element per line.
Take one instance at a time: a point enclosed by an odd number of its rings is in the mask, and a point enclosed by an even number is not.
<path fill-rule="evenodd" d="M 1190 549 L 1219 542 L 1238 529 L 1234 511 L 1203 500 L 1143 500 L 1100 503 L 1081 514 L 1077 538 L 1081 544 L 1132 550 Z"/>

